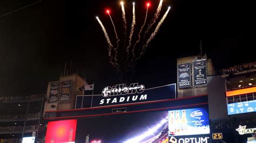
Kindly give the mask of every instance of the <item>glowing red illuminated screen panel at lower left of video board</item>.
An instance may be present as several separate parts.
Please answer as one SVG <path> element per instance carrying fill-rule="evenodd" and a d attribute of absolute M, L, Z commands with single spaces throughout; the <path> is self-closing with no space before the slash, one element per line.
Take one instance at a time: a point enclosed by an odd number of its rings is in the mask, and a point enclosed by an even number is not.
<path fill-rule="evenodd" d="M 47 125 L 46 143 L 75 142 L 77 120 L 49 121 Z"/>

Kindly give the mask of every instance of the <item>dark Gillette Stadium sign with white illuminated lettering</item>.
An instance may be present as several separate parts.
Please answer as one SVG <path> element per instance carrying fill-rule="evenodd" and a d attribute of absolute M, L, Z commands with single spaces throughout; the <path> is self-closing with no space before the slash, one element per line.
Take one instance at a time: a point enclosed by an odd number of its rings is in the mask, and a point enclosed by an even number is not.
<path fill-rule="evenodd" d="M 96 107 L 174 98 L 176 98 L 176 84 L 148 89 L 145 88 L 145 85 L 138 83 L 131 83 L 129 87 L 125 87 L 124 84 L 117 84 L 113 87 L 105 87 L 102 90 L 102 95 L 83 96 L 82 108 L 91 107 L 91 101 L 92 107 Z"/>

